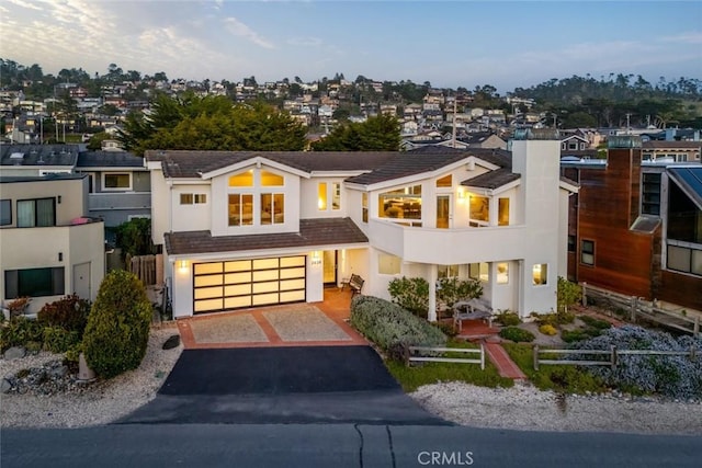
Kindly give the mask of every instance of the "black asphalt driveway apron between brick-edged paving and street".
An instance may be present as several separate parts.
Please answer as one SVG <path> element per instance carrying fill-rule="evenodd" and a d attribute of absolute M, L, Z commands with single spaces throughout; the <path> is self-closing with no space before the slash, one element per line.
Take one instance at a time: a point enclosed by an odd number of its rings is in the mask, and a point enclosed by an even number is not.
<path fill-rule="evenodd" d="M 450 425 L 363 345 L 184 350 L 156 399 L 117 423 Z"/>

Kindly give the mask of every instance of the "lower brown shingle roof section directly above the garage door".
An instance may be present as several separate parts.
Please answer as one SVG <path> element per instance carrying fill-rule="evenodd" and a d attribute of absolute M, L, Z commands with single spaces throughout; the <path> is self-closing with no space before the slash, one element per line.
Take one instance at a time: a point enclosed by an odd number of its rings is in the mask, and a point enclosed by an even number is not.
<path fill-rule="evenodd" d="M 301 219 L 299 232 L 217 236 L 210 231 L 167 232 L 166 252 L 188 255 L 244 250 L 366 243 L 369 239 L 350 218 Z"/>

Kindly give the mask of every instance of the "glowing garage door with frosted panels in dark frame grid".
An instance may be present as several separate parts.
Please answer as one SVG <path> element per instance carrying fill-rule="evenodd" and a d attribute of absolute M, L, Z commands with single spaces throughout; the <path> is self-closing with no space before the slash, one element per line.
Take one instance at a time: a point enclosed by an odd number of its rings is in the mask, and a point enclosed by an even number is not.
<path fill-rule="evenodd" d="M 305 300 L 305 256 L 193 265 L 194 313 Z"/>

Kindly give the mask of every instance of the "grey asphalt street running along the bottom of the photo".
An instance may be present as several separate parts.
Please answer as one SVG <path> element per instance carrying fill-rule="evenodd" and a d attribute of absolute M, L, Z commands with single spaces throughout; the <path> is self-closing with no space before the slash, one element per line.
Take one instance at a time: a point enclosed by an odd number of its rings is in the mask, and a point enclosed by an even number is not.
<path fill-rule="evenodd" d="M 699 467 L 702 438 L 354 424 L 3 430 L 14 467 Z"/>

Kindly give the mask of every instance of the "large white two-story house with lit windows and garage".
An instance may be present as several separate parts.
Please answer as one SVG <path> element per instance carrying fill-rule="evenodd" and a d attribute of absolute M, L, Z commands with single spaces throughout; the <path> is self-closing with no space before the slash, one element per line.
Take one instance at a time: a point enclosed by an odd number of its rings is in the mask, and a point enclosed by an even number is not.
<path fill-rule="evenodd" d="M 351 274 L 384 298 L 396 277 L 473 277 L 495 310 L 554 310 L 578 187 L 557 133 L 511 147 L 147 151 L 173 316 L 320 301 Z M 430 320 L 435 306 L 431 287 Z"/>

